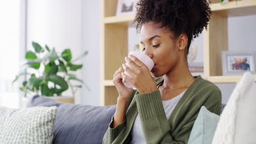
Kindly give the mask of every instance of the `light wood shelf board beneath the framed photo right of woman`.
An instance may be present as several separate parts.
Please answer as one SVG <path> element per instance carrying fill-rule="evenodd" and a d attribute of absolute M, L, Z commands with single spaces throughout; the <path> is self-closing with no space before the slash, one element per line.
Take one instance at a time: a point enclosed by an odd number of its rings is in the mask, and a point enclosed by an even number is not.
<path fill-rule="evenodd" d="M 208 80 L 213 83 L 236 83 L 241 79 L 242 76 L 210 76 Z M 256 81 L 256 75 L 254 75 Z"/>

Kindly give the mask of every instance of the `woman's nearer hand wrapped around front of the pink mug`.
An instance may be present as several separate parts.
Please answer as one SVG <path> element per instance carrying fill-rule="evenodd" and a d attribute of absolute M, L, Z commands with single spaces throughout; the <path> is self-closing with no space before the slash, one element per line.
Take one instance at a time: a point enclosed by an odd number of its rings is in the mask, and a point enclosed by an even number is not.
<path fill-rule="evenodd" d="M 157 90 L 156 82 L 151 76 L 150 71 L 144 63 L 139 67 L 142 62 L 135 56 L 129 55 L 125 59 L 126 63 L 130 65 L 132 69 L 123 64 L 123 69 L 130 76 L 122 73 L 123 78 L 136 87 L 139 93 L 150 93 Z"/>

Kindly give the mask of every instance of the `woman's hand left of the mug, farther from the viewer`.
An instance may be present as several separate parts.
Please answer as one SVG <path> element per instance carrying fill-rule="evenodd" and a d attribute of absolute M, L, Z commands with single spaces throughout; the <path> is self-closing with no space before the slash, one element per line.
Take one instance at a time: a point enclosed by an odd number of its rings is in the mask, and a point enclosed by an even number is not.
<path fill-rule="evenodd" d="M 120 67 L 117 71 L 115 71 L 115 74 L 113 75 L 113 83 L 119 93 L 119 99 L 128 101 L 131 97 L 133 89 L 128 88 L 124 85 L 123 76 L 121 75 L 121 73 L 124 73 L 123 67 Z"/>

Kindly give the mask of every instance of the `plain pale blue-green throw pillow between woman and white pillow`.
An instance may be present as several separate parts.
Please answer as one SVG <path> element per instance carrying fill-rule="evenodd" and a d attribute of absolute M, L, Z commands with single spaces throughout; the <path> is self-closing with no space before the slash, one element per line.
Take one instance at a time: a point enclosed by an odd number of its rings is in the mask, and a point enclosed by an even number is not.
<path fill-rule="evenodd" d="M 219 116 L 202 106 L 191 130 L 188 144 L 212 143 Z"/>

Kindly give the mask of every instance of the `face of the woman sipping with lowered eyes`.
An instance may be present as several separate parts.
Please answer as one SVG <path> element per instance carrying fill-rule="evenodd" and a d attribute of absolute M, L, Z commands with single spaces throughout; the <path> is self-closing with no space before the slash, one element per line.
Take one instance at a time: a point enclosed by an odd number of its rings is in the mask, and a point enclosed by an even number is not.
<path fill-rule="evenodd" d="M 155 63 L 152 69 L 155 77 L 173 70 L 180 56 L 179 47 L 172 39 L 172 32 L 165 28 L 158 28 L 158 26 L 153 22 L 147 22 L 142 26 L 139 35 L 143 52 Z"/>

